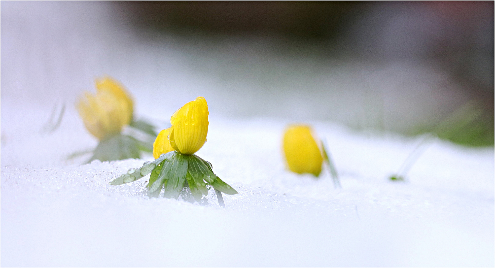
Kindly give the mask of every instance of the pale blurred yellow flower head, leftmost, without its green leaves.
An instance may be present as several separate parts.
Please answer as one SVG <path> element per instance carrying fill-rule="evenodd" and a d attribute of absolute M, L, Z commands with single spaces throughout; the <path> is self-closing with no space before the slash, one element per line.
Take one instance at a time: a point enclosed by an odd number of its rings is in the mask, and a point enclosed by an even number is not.
<path fill-rule="evenodd" d="M 119 134 L 132 120 L 132 100 L 109 78 L 98 82 L 97 93 L 85 92 L 76 103 L 86 129 L 99 140 Z"/>

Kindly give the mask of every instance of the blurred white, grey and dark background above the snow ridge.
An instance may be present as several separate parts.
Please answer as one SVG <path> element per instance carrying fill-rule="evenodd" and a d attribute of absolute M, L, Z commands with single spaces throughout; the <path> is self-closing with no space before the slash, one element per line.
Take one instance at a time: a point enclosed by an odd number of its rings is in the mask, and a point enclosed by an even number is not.
<path fill-rule="evenodd" d="M 2 123 L 23 103 L 75 113 L 107 74 L 155 120 L 202 95 L 217 118 L 494 145 L 493 1 L 0 5 Z"/>

